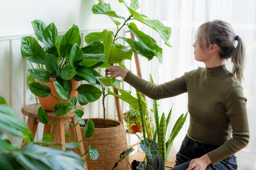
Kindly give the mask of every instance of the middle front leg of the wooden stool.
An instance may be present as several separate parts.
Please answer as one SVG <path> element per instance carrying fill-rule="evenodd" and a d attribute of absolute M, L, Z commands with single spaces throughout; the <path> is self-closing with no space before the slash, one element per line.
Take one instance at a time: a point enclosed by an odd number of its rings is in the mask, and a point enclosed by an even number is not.
<path fill-rule="evenodd" d="M 53 126 L 51 126 L 51 132 L 53 130 Z M 52 140 L 53 143 L 65 143 L 65 129 L 64 129 L 64 121 L 63 119 L 58 119 L 56 123 L 56 127 L 54 129 L 54 132 L 52 134 L 54 136 L 54 139 Z M 61 150 L 66 150 L 64 146 L 54 146 Z"/>

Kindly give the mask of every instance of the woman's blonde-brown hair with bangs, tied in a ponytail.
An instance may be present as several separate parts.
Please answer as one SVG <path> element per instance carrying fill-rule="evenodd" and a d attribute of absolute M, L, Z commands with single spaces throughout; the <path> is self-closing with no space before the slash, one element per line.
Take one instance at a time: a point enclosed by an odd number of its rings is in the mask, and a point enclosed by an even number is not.
<path fill-rule="evenodd" d="M 207 49 L 211 44 L 217 44 L 220 49 L 220 57 L 226 60 L 231 58 L 233 63 L 232 73 L 241 82 L 245 63 L 245 46 L 229 23 L 222 20 L 205 22 L 199 26 L 195 38 L 202 49 Z M 237 46 L 235 46 L 236 40 Z"/>

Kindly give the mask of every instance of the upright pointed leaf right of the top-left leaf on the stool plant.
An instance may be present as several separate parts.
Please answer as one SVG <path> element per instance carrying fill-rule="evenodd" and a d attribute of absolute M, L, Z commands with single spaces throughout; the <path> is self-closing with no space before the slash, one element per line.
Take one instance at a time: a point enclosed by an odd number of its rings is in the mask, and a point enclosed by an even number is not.
<path fill-rule="evenodd" d="M 58 57 L 58 51 L 55 46 L 57 44 L 57 40 L 58 31 L 52 22 L 43 31 L 43 43 L 45 44 L 45 50 L 48 54 L 52 54 Z"/>

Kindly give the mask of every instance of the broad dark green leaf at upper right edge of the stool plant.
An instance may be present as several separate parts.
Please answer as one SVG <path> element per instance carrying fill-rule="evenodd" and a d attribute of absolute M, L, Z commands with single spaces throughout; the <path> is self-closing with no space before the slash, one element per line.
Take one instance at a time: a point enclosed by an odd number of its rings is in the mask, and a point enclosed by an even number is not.
<path fill-rule="evenodd" d="M 101 38 L 101 33 L 100 33 Z M 102 41 L 102 40 L 101 40 Z M 87 46 L 82 48 L 82 51 L 84 54 L 98 54 L 98 53 L 104 53 L 104 45 L 101 42 L 91 42 Z"/>

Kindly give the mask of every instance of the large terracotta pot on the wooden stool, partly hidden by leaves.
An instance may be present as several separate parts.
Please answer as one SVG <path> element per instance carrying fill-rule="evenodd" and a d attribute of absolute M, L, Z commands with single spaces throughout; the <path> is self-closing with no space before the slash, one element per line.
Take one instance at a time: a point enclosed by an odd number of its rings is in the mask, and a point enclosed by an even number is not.
<path fill-rule="evenodd" d="M 56 77 L 50 77 L 50 81 L 51 82 L 44 83 L 44 82 L 40 82 L 40 81 L 36 80 L 36 82 L 42 83 L 42 84 L 45 84 L 46 86 L 48 86 L 51 89 L 52 95 L 56 96 L 57 92 L 56 92 L 56 89 L 54 87 L 54 84 L 52 83 L 52 82 L 56 81 Z M 75 90 L 76 88 L 78 88 L 79 82 L 75 81 L 74 79 L 71 79 L 71 83 L 72 83 L 72 90 Z M 70 97 L 72 97 L 72 96 L 77 97 L 77 94 L 78 94 L 77 91 L 71 91 Z M 49 95 L 47 97 L 38 97 L 41 106 L 45 110 L 48 110 L 50 112 L 54 111 L 53 107 L 56 104 L 58 104 L 57 99 L 54 98 L 52 95 Z M 58 97 L 58 101 L 59 101 L 59 103 L 61 102 L 61 97 Z M 69 100 L 67 100 L 65 103 L 68 103 L 68 102 L 69 102 Z"/>

